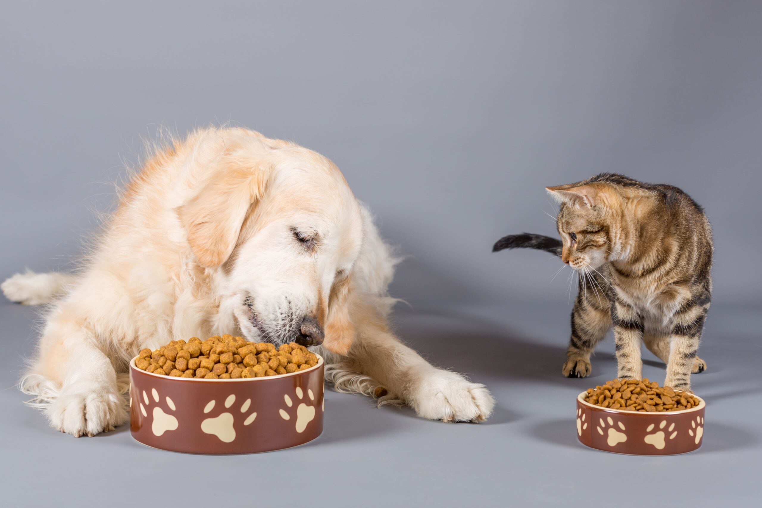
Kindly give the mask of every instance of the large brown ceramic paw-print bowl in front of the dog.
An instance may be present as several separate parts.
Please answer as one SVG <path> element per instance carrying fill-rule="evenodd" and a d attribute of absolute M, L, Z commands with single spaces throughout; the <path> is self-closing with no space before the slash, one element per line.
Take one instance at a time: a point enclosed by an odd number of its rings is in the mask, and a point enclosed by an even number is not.
<path fill-rule="evenodd" d="M 130 362 L 130 431 L 171 452 L 224 455 L 303 445 L 323 431 L 323 359 L 247 379 L 174 378 Z"/>

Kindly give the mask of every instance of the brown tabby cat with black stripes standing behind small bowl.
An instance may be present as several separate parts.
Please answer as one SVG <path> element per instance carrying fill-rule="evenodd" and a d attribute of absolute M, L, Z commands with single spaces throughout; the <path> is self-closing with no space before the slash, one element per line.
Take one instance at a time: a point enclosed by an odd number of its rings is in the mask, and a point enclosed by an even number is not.
<path fill-rule="evenodd" d="M 640 379 L 640 344 L 667 364 L 664 385 L 690 389 L 711 301 L 712 230 L 703 209 L 671 185 L 598 174 L 546 187 L 560 203 L 562 241 L 510 235 L 492 249 L 536 248 L 559 254 L 579 273 L 563 374 L 585 377 L 597 343 L 614 329 L 620 379 Z"/>

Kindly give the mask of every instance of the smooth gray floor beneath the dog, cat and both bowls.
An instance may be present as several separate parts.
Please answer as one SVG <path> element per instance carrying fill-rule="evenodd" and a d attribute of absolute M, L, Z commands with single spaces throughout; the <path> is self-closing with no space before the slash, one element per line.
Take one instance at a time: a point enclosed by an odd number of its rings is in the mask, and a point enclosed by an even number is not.
<path fill-rule="evenodd" d="M 207 457 L 146 448 L 127 426 L 79 439 L 47 427 L 14 388 L 34 347 L 36 312 L 0 302 L 0 505 L 230 506 L 237 498 L 232 506 L 758 506 L 758 309 L 712 308 L 700 350 L 709 369 L 693 376 L 707 401 L 705 443 L 657 458 L 578 443 L 575 395 L 613 378 L 616 361 L 608 339 L 591 379 L 561 376 L 568 311 L 514 303 L 396 314 L 397 330 L 432 362 L 488 385 L 498 406 L 487 423 L 424 421 L 328 391 L 325 430 L 314 442 Z M 644 375 L 662 382 L 664 366 L 644 358 Z"/>

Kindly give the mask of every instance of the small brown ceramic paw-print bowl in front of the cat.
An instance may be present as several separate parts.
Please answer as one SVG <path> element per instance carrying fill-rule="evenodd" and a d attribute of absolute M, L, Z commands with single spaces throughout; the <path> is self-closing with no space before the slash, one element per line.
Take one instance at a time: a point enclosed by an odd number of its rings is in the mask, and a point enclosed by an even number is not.
<path fill-rule="evenodd" d="M 683 411 L 640 413 L 617 411 L 577 397 L 577 436 L 585 446 L 628 455 L 677 455 L 703 442 L 704 403 Z M 695 395 L 694 395 L 695 396 Z"/>

